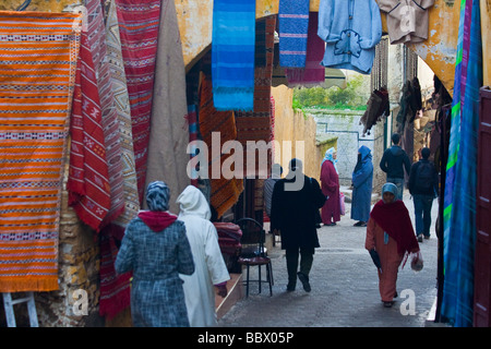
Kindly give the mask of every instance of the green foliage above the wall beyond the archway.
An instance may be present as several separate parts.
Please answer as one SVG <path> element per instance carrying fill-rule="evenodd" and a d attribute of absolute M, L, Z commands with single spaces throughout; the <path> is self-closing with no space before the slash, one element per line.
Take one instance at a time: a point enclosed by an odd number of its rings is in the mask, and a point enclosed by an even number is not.
<path fill-rule="evenodd" d="M 363 94 L 360 93 L 362 84 L 363 77 L 360 75 L 348 81 L 346 88 L 337 86 L 331 88 L 296 88 L 294 91 L 294 105 L 297 104 L 297 108 L 301 106 L 304 108 L 364 110 L 367 100 L 363 100 Z"/>

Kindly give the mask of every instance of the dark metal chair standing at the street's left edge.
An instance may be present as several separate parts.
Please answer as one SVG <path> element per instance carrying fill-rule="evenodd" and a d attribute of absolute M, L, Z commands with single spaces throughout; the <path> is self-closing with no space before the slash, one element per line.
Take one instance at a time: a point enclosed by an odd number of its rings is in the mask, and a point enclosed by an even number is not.
<path fill-rule="evenodd" d="M 240 243 L 242 250 L 238 258 L 238 263 L 246 266 L 246 297 L 249 297 L 249 284 L 259 282 L 259 293 L 261 293 L 261 285 L 267 282 L 270 285 L 270 296 L 273 296 L 273 267 L 271 258 L 267 256 L 267 251 L 264 248 L 266 232 L 263 226 L 252 218 L 240 218 L 236 222 L 242 230 L 242 239 Z M 261 278 L 261 266 L 266 267 L 266 279 Z M 250 279 L 250 267 L 258 266 L 258 280 Z"/>

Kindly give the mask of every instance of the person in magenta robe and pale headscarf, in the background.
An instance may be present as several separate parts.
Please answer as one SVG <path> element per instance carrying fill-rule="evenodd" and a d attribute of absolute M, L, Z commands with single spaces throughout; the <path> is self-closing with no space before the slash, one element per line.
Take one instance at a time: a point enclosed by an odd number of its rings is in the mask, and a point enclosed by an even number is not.
<path fill-rule="evenodd" d="M 339 176 L 336 168 L 337 154 L 334 147 L 325 152 L 321 165 L 321 188 L 326 201 L 321 217 L 325 226 L 335 226 L 340 220 Z"/>

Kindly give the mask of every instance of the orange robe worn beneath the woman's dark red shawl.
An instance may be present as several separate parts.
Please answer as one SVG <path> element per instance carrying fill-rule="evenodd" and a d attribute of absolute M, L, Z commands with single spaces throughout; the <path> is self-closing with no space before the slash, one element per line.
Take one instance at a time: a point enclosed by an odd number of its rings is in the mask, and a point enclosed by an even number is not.
<path fill-rule="evenodd" d="M 403 254 L 397 253 L 397 242 L 388 237 L 388 243 L 384 243 L 384 230 L 370 218 L 367 225 L 367 239 L 364 243 L 367 250 L 375 249 L 380 255 L 382 273 L 379 274 L 379 291 L 383 302 L 393 300 L 396 292 L 397 273 L 403 262 Z"/>

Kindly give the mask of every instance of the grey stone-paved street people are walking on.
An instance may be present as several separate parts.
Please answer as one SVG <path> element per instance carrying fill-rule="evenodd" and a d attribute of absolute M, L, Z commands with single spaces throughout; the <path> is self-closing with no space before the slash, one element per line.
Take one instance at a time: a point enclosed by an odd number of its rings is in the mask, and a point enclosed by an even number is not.
<path fill-rule="evenodd" d="M 404 202 L 414 224 L 414 203 L 406 191 Z M 399 298 L 391 309 L 383 306 L 376 269 L 364 250 L 366 228 L 354 227 L 350 204 L 346 216 L 335 227 L 318 230 L 321 248 L 316 250 L 307 293 L 300 281 L 294 292 L 286 292 L 287 273 L 284 251 L 277 243 L 270 251 L 275 285 L 270 297 L 267 285 L 258 294 L 251 287 L 249 298 L 240 300 L 220 318 L 220 327 L 422 327 L 436 297 L 438 239 L 434 224 L 438 200 L 433 202 L 431 239 L 420 243 L 424 260 L 421 272 L 415 273 L 410 262 L 399 269 Z M 265 273 L 263 273 L 264 275 Z M 263 276 L 264 277 L 264 276 Z M 415 314 L 404 315 L 415 296 Z M 402 306 L 403 305 L 403 306 Z"/>

